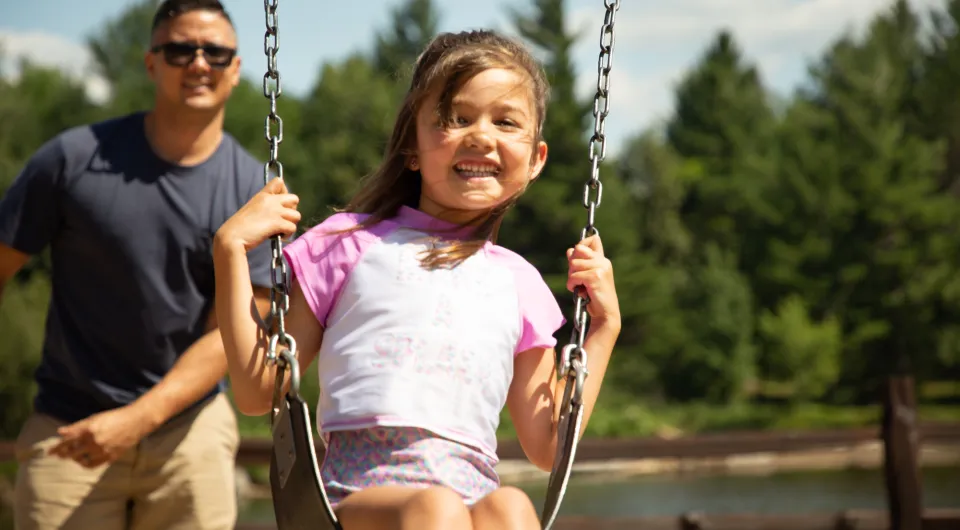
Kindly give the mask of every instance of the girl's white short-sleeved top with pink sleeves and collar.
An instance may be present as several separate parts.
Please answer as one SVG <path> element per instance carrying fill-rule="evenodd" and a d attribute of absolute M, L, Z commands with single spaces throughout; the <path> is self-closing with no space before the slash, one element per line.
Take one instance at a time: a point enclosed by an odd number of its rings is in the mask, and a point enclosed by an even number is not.
<path fill-rule="evenodd" d="M 455 268 L 422 268 L 434 236 L 454 236 L 413 208 L 336 233 L 365 217 L 335 214 L 284 249 L 324 327 L 320 432 L 420 427 L 496 459 L 513 358 L 556 345 L 556 299 L 529 262 L 492 243 Z"/>

